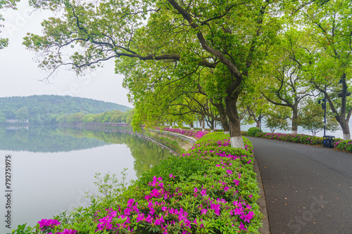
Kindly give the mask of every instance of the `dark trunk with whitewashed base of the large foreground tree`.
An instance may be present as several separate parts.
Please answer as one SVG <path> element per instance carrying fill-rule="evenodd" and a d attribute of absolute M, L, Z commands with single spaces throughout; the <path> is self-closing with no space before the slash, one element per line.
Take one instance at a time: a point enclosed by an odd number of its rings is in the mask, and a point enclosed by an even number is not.
<path fill-rule="evenodd" d="M 225 105 L 230 122 L 231 147 L 244 149 L 244 142 L 241 136 L 241 120 L 239 119 L 239 112 L 237 110 L 237 98 L 237 94 L 227 96 L 225 98 Z"/>

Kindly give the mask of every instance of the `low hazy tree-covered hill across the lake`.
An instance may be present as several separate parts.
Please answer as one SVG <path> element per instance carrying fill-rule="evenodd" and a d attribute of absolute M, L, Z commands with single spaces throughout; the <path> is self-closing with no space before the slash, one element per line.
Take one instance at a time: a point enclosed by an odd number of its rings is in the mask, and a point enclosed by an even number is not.
<path fill-rule="evenodd" d="M 4 119 L 29 119 L 32 123 L 50 124 L 63 114 L 98 114 L 111 110 L 126 112 L 130 109 L 125 105 L 72 96 L 15 96 L 0 98 L 0 123 L 4 122 Z"/>

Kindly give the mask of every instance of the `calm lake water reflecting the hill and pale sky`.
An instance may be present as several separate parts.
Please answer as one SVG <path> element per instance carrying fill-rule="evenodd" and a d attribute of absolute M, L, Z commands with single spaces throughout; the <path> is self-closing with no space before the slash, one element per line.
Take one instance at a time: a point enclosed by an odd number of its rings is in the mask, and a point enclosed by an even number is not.
<path fill-rule="evenodd" d="M 98 193 L 94 174 L 117 174 L 127 168 L 127 181 L 159 164 L 172 152 L 139 134 L 58 126 L 0 126 L 0 233 L 19 224 L 75 207 L 87 207 L 86 192 Z M 11 155 L 11 209 L 6 207 L 6 155 Z M 11 229 L 6 217 L 11 212 Z"/>

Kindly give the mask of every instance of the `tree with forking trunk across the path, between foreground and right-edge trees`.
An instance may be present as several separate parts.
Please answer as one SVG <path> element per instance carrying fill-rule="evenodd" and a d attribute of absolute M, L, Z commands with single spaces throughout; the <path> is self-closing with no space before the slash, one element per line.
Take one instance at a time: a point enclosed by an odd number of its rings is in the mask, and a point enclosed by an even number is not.
<path fill-rule="evenodd" d="M 258 86 L 270 103 L 291 110 L 291 133 L 297 134 L 299 105 L 307 96 L 314 96 L 315 89 L 290 59 L 291 43 L 290 32 L 282 34 L 277 46 L 270 51 L 268 66 L 260 74 L 262 79 Z"/>

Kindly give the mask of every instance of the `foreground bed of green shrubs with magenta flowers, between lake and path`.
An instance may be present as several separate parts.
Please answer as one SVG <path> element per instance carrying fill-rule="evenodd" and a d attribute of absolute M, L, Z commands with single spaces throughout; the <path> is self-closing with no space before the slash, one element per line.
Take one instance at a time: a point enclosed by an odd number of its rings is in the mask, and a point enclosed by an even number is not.
<path fill-rule="evenodd" d="M 228 135 L 206 134 L 171 156 L 119 197 L 56 216 L 38 233 L 258 233 L 261 214 L 251 143 L 230 148 Z M 46 222 L 48 223 L 48 222 Z M 52 224 L 54 223 L 55 226 Z M 42 224 L 41 224 L 42 225 Z M 34 232 L 33 232 L 34 233 Z"/>

